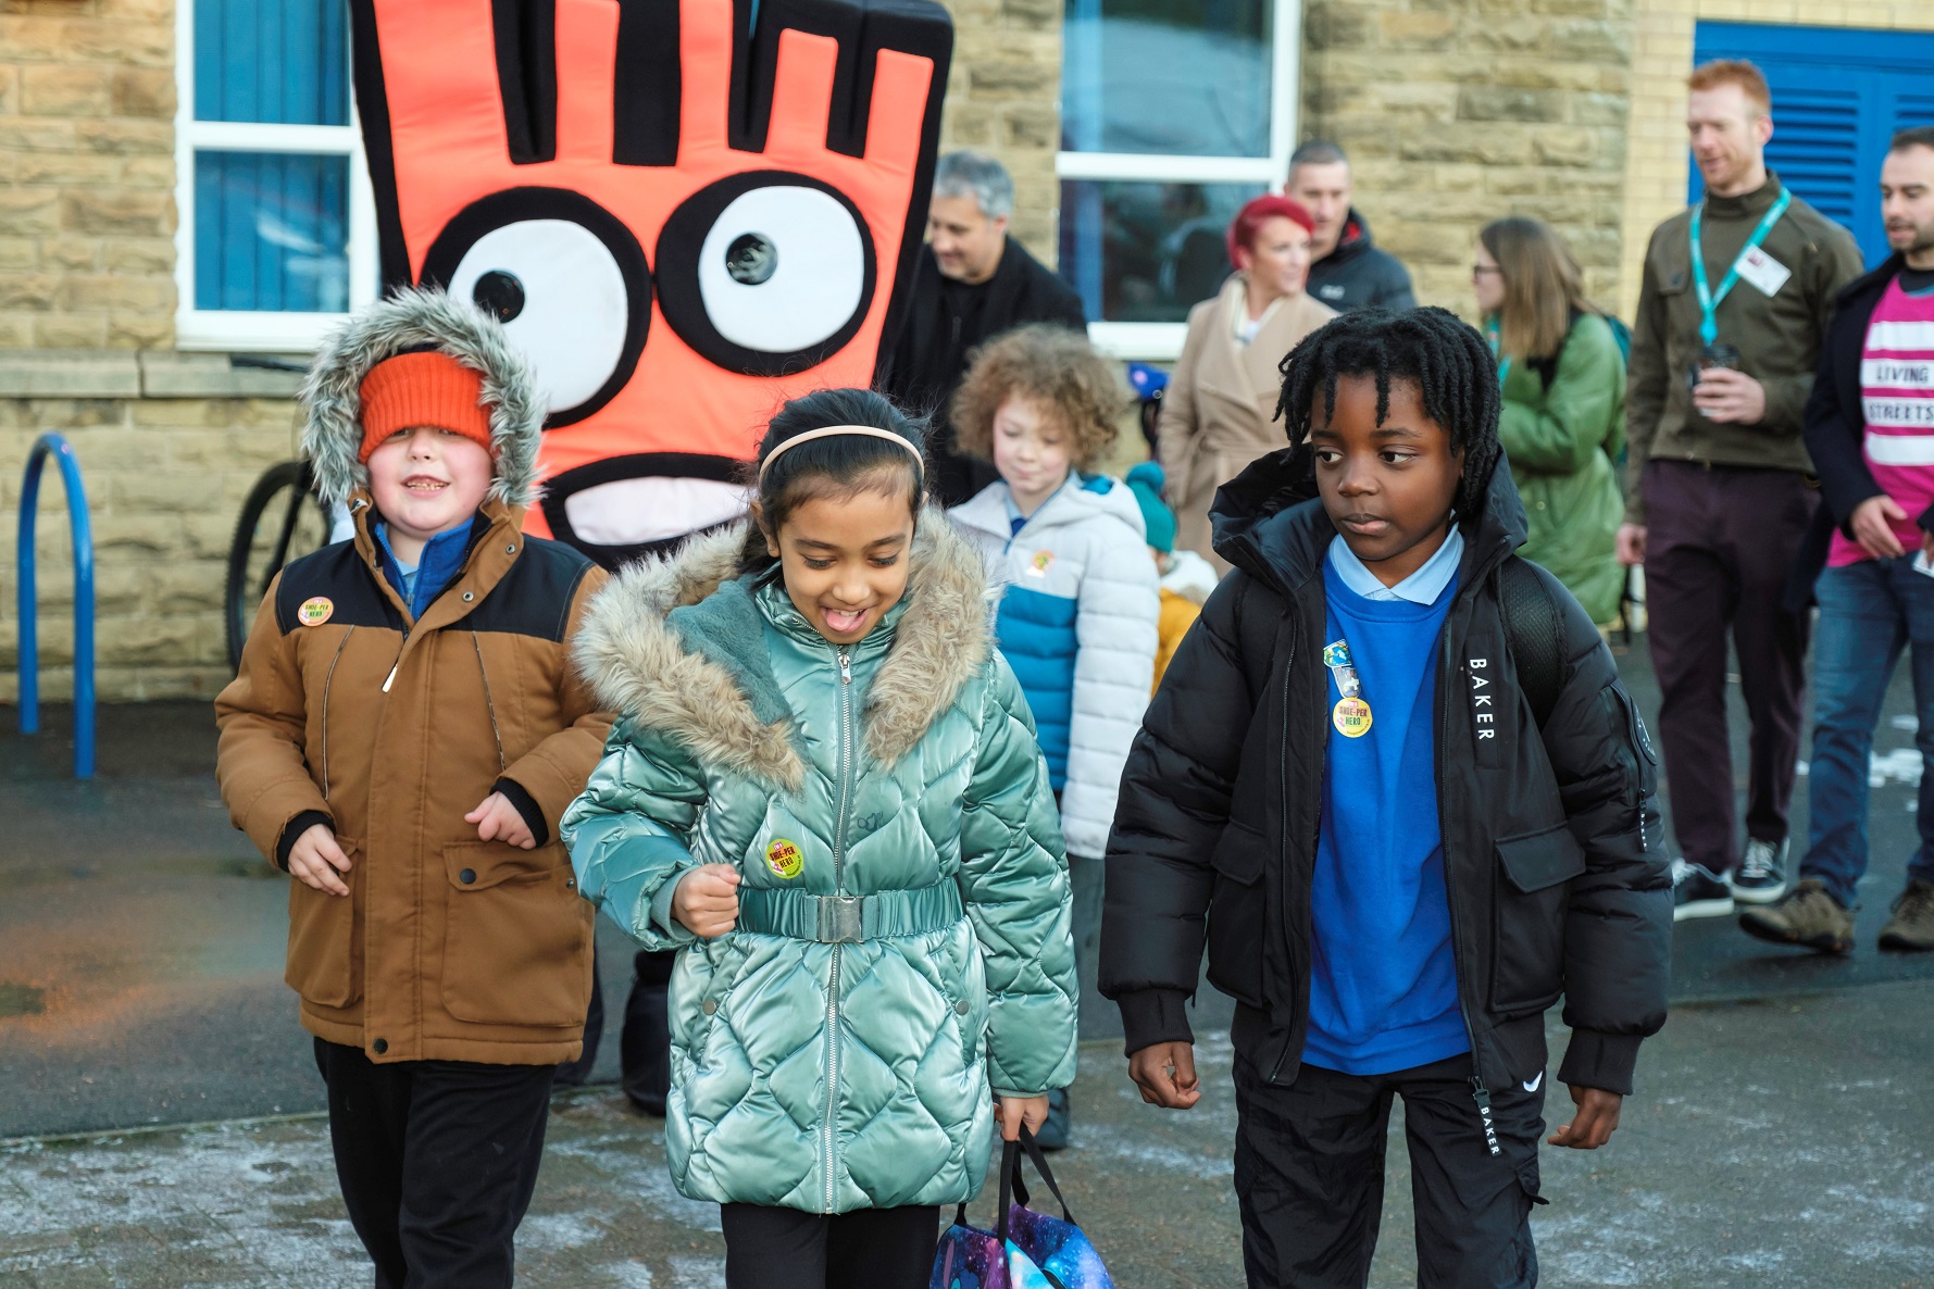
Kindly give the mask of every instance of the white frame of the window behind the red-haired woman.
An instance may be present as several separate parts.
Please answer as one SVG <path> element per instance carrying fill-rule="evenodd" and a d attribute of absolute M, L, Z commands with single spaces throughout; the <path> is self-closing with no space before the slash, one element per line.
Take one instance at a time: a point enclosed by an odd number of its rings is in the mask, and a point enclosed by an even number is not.
<path fill-rule="evenodd" d="M 1056 153 L 1062 180 L 1139 180 L 1162 184 L 1263 184 L 1280 191 L 1296 151 L 1302 100 L 1304 0 L 1275 0 L 1271 25 L 1269 155 L 1164 157 L 1145 153 Z M 1066 213 L 1064 213 L 1066 218 Z M 1095 348 L 1126 361 L 1174 361 L 1186 323 L 1089 323 Z"/>

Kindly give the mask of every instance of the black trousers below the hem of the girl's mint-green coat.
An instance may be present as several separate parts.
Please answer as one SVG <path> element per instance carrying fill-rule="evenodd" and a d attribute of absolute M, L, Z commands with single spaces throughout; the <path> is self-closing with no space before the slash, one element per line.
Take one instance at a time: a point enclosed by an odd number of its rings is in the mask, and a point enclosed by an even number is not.
<path fill-rule="evenodd" d="M 938 1208 L 861 1208 L 837 1217 L 721 1204 L 725 1289 L 926 1289 Z"/>

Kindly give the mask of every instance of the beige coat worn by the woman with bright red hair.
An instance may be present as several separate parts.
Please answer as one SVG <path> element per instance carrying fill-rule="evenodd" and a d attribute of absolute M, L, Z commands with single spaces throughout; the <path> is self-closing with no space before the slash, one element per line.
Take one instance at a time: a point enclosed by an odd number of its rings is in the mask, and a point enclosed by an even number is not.
<path fill-rule="evenodd" d="M 1160 446 L 1166 499 L 1176 510 L 1176 549 L 1228 564 L 1209 549 L 1209 502 L 1244 466 L 1286 444 L 1276 423 L 1282 377 L 1276 367 L 1296 344 L 1336 317 L 1307 294 L 1282 300 L 1249 344 L 1236 342 L 1247 307 L 1238 272 L 1220 294 L 1189 309 L 1189 336 L 1162 396 Z"/>

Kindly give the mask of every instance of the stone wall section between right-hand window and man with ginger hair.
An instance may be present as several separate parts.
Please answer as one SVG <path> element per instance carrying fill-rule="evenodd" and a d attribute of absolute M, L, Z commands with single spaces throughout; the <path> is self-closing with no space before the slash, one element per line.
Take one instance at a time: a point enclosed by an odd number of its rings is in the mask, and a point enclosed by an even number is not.
<path fill-rule="evenodd" d="M 1503 215 L 1561 228 L 1617 301 L 1632 0 L 1309 0 L 1302 137 L 1334 139 L 1418 300 L 1474 313 L 1470 253 Z"/>

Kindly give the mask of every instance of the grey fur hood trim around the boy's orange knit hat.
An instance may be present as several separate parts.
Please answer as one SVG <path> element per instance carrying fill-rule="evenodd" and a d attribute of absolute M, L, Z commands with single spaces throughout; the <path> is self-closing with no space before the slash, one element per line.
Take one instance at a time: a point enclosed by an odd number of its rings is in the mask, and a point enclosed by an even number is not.
<path fill-rule="evenodd" d="M 344 323 L 315 356 L 302 383 L 309 419 L 302 450 L 315 462 L 327 502 L 346 502 L 369 487 L 362 450 L 362 383 L 385 358 L 433 346 L 484 375 L 497 473 L 489 497 L 509 506 L 538 499 L 538 441 L 545 406 L 530 367 L 503 327 L 472 303 L 441 290 L 398 290 Z"/>

